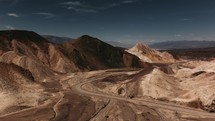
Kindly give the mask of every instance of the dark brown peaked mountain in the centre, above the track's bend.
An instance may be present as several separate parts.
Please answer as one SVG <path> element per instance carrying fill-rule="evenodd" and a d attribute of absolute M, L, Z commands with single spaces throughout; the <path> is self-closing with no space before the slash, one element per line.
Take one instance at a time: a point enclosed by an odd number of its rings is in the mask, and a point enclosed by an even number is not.
<path fill-rule="evenodd" d="M 64 47 L 69 58 L 80 68 L 94 70 L 142 66 L 136 56 L 88 35 L 66 42 Z"/>

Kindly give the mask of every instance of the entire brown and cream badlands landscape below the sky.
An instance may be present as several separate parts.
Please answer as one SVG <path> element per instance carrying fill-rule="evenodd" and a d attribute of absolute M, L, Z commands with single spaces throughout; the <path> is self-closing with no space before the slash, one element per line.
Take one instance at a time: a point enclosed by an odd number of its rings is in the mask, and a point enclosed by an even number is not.
<path fill-rule="evenodd" d="M 214 86 L 212 57 L 0 31 L 0 121 L 214 121 Z"/>

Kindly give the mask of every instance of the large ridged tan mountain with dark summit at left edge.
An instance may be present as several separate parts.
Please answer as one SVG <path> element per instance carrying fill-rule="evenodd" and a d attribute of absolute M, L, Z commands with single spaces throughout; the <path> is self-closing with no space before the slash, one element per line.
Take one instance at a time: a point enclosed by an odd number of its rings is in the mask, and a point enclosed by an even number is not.
<path fill-rule="evenodd" d="M 50 43 L 30 31 L 1 31 L 0 60 L 28 69 L 36 79 L 56 73 L 79 71 L 63 51 L 63 47 Z"/>

